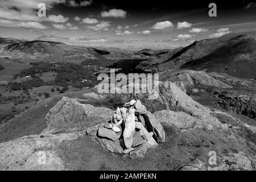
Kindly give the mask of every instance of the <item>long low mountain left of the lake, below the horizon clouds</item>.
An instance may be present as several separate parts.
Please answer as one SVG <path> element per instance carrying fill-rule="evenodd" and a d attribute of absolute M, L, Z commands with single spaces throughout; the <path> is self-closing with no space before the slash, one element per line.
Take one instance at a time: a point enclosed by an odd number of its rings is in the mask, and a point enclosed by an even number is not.
<path fill-rule="evenodd" d="M 71 46 L 61 42 L 42 40 L 10 44 L 2 50 L 0 55 L 23 63 L 46 61 L 79 64 L 84 60 L 145 59 L 142 53 L 133 51 L 123 51 L 116 48 Z"/>

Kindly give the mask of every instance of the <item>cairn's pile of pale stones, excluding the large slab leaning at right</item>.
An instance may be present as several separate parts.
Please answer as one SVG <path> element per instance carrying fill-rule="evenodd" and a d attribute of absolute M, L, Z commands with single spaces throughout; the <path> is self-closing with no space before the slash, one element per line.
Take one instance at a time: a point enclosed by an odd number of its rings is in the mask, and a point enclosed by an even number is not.
<path fill-rule="evenodd" d="M 131 100 L 123 107 L 117 107 L 115 113 L 103 127 L 98 129 L 98 137 L 117 140 L 123 148 L 123 154 L 128 154 L 143 143 L 156 143 L 153 132 L 148 132 L 143 114 L 147 110 L 141 101 Z"/>

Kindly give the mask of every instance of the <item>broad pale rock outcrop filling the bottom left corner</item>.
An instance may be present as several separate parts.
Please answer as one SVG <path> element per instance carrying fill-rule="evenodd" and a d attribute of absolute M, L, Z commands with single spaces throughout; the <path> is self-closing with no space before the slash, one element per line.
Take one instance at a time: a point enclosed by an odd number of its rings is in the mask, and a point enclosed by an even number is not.
<path fill-rule="evenodd" d="M 0 143 L 0 170 L 64 170 L 57 143 L 79 134 L 30 135 Z"/>

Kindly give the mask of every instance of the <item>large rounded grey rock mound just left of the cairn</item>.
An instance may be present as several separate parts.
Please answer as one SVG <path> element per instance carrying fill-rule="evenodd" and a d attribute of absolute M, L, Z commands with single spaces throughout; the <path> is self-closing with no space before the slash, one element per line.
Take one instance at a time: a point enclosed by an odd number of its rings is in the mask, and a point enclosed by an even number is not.
<path fill-rule="evenodd" d="M 46 115 L 48 130 L 63 130 L 106 122 L 113 110 L 81 104 L 82 100 L 63 97 Z"/>

